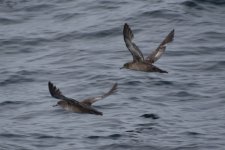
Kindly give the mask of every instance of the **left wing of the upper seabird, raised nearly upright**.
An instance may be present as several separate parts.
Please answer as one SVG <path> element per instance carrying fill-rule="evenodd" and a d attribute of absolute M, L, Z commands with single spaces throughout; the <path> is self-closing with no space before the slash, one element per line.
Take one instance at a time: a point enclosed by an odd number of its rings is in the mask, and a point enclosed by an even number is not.
<path fill-rule="evenodd" d="M 124 42 L 126 43 L 127 48 L 129 49 L 129 51 L 131 52 L 133 56 L 133 62 L 144 61 L 144 56 L 141 53 L 140 49 L 134 42 L 132 42 L 134 35 L 127 23 L 124 24 L 123 37 L 124 37 Z"/>

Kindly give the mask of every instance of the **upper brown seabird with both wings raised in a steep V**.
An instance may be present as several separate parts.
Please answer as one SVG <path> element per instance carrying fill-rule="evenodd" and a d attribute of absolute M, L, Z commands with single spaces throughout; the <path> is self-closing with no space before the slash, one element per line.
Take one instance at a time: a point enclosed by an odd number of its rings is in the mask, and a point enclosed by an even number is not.
<path fill-rule="evenodd" d="M 154 66 L 153 63 L 155 63 L 165 52 L 166 44 L 173 41 L 174 29 L 166 36 L 166 38 L 161 42 L 161 44 L 156 48 L 156 50 L 154 50 L 146 58 L 144 58 L 138 46 L 134 42 L 132 42 L 134 35 L 129 25 L 126 23 L 124 24 L 123 28 L 123 36 L 126 46 L 133 56 L 133 61 L 125 63 L 122 68 L 144 72 L 168 73 L 167 71 L 161 70 L 158 67 Z"/>

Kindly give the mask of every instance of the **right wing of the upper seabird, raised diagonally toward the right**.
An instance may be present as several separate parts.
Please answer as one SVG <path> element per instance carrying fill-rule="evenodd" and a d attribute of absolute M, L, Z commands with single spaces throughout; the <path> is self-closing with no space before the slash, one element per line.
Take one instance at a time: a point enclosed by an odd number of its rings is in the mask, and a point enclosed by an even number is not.
<path fill-rule="evenodd" d="M 154 63 L 156 62 L 162 54 L 166 50 L 166 44 L 173 41 L 174 38 L 174 29 L 166 36 L 166 38 L 161 42 L 161 44 L 157 47 L 155 51 L 153 51 L 146 59 L 145 61 L 147 63 Z"/>

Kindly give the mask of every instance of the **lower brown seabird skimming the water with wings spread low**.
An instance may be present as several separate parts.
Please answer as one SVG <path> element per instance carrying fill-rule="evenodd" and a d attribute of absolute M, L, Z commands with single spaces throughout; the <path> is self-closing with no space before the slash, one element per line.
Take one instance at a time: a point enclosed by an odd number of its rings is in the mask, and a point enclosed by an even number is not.
<path fill-rule="evenodd" d="M 91 105 L 94 102 L 101 100 L 111 95 L 112 93 L 114 93 L 117 89 L 117 83 L 115 83 L 113 87 L 102 96 L 89 97 L 80 102 L 75 99 L 64 96 L 62 92 L 56 86 L 54 86 L 53 83 L 51 83 L 50 81 L 48 82 L 48 88 L 52 97 L 56 99 L 60 99 L 60 101 L 58 101 L 57 104 L 54 106 L 61 106 L 63 109 L 71 111 L 71 112 L 102 115 L 102 112 L 94 109 L 93 107 L 91 107 Z"/>

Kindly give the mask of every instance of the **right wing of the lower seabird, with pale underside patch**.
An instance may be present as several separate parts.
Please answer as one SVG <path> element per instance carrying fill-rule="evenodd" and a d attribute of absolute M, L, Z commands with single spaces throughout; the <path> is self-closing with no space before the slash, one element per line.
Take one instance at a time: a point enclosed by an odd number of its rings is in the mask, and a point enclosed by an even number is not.
<path fill-rule="evenodd" d="M 94 102 L 96 102 L 98 100 L 101 100 L 101 99 L 113 94 L 116 91 L 116 89 L 117 89 L 117 83 L 114 83 L 112 88 L 107 93 L 105 93 L 101 96 L 90 97 L 90 98 L 84 99 L 80 103 L 91 106 Z"/>

